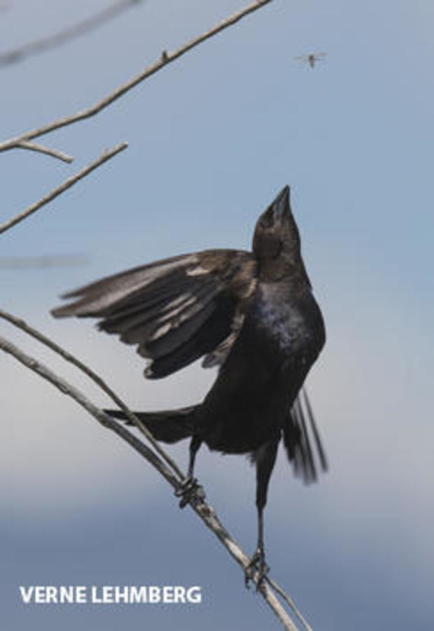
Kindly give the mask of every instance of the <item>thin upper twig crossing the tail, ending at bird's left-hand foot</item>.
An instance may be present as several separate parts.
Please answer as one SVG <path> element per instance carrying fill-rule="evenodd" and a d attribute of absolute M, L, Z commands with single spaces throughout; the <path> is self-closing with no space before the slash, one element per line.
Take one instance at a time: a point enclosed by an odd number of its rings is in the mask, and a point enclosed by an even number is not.
<path fill-rule="evenodd" d="M 123 400 L 120 399 L 118 395 L 116 395 L 116 392 L 113 392 L 113 390 L 111 390 L 109 385 L 107 385 L 105 381 L 100 376 L 98 376 L 92 369 L 90 369 L 85 364 L 83 364 L 83 362 L 80 362 L 80 360 L 78 360 L 76 357 L 71 355 L 71 353 L 69 353 L 67 350 L 62 348 L 62 346 L 59 346 L 57 343 L 50 340 L 41 332 L 36 331 L 36 329 L 34 329 L 33 327 L 30 327 L 24 320 L 20 318 L 15 318 L 15 315 L 12 315 L 11 313 L 7 313 L 6 311 L 3 311 L 2 309 L 0 309 L 0 318 L 3 318 L 3 320 L 8 320 L 8 322 L 15 325 L 15 327 L 18 327 L 22 331 L 25 331 L 27 334 L 31 335 L 31 337 L 34 337 L 34 339 L 37 339 L 38 341 L 45 344 L 45 346 L 48 346 L 48 348 L 51 348 L 51 350 L 54 350 L 55 353 L 57 353 L 58 355 L 61 355 L 67 362 L 70 362 L 71 364 L 76 366 L 78 369 L 83 371 L 89 378 L 92 379 L 92 381 L 94 381 L 94 383 L 99 385 L 99 388 L 101 388 L 106 393 L 106 395 L 109 395 L 112 401 L 116 403 L 116 405 L 119 406 L 121 410 L 125 412 L 125 414 L 127 415 L 128 419 L 131 421 L 131 423 L 135 425 L 136 427 L 138 427 L 141 433 L 144 434 L 144 436 L 146 436 L 146 438 L 151 443 L 155 451 L 157 451 L 158 454 L 161 456 L 161 458 L 163 458 L 163 460 L 167 462 L 167 465 L 169 465 L 169 467 L 172 467 L 174 473 L 177 476 L 179 476 L 181 480 L 185 478 L 185 476 L 183 476 L 182 472 L 176 465 L 176 462 L 174 462 L 174 460 L 172 460 L 172 458 L 170 458 L 170 456 L 165 452 L 165 450 L 158 444 L 158 442 L 155 440 L 155 438 L 153 437 L 151 432 L 148 430 L 148 428 L 141 422 L 139 417 L 136 414 L 132 413 L 130 409 L 128 409 L 127 404 L 125 404 Z"/>

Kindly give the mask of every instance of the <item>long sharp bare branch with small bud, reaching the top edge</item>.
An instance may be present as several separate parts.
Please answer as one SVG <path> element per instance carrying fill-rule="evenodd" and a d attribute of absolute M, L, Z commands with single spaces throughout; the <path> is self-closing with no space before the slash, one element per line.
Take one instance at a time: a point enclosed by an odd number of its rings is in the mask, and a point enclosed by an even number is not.
<path fill-rule="evenodd" d="M 36 129 L 31 129 L 29 132 L 25 132 L 25 134 L 20 134 L 20 136 L 15 136 L 14 138 L 4 141 L 3 143 L 0 143 L 0 151 L 6 151 L 8 149 L 16 148 L 20 143 L 22 143 L 22 141 L 29 141 L 33 138 L 37 138 L 38 136 L 42 136 L 43 134 L 47 134 L 48 132 L 52 132 L 54 129 L 59 129 L 60 127 L 71 125 L 73 122 L 78 122 L 79 120 L 84 120 L 85 118 L 90 118 L 91 116 L 94 116 L 95 114 L 99 113 L 104 108 L 109 106 L 111 103 L 113 103 L 113 101 L 116 101 L 116 99 L 122 97 L 123 94 L 131 90 L 132 87 L 136 86 L 138 83 L 141 83 L 141 81 L 153 75 L 164 66 L 167 66 L 167 64 L 174 62 L 175 59 L 178 59 L 179 57 L 181 57 L 181 55 L 184 55 L 186 52 L 188 52 L 188 50 L 195 48 L 195 46 L 199 45 L 203 41 L 220 33 L 224 29 L 227 29 L 228 27 L 232 26 L 232 24 L 239 22 L 241 18 L 245 17 L 249 13 L 253 13 L 253 11 L 258 10 L 259 8 L 262 8 L 262 6 L 265 6 L 271 1 L 272 0 L 255 0 L 244 9 L 239 10 L 237 13 L 234 13 L 234 15 L 227 17 L 225 20 L 222 20 L 212 29 L 205 31 L 202 35 L 187 42 L 180 48 L 177 48 L 176 50 L 174 50 L 174 52 L 167 52 L 166 50 L 164 50 L 158 61 L 151 64 L 151 66 L 145 68 L 143 71 L 141 71 L 141 73 L 131 78 L 126 83 L 123 83 L 123 85 L 120 85 L 116 90 L 111 92 L 111 94 L 108 94 L 106 97 L 104 97 L 104 99 L 101 99 L 101 101 L 97 101 L 97 103 L 90 106 L 89 108 L 86 108 L 85 110 L 79 111 L 69 116 L 65 116 L 64 118 L 58 118 L 57 120 L 52 121 L 47 125 L 36 127 Z"/>

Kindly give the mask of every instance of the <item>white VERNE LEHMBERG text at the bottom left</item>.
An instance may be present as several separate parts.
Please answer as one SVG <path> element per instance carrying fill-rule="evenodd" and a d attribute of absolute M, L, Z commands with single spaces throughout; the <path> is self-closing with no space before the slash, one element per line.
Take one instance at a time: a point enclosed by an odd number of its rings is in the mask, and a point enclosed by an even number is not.
<path fill-rule="evenodd" d="M 199 586 L 181 585 L 20 585 L 25 604 L 200 603 Z"/>

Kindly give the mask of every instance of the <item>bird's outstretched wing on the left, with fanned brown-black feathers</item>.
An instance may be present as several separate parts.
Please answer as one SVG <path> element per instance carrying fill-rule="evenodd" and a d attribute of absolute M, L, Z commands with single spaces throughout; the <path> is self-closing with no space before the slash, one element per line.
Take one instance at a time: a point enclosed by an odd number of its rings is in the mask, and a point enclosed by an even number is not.
<path fill-rule="evenodd" d="M 102 318 L 98 327 L 118 334 L 151 362 L 148 378 L 173 373 L 213 353 L 230 336 L 235 313 L 256 285 L 256 263 L 239 250 L 204 250 L 103 278 L 64 298 L 56 318 Z"/>

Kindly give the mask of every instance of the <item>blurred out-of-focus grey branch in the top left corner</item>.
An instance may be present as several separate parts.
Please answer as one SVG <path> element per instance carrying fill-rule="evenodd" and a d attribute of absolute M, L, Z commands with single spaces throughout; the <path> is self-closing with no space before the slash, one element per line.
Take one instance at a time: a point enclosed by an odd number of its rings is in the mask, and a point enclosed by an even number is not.
<path fill-rule="evenodd" d="M 34 55 L 36 52 L 44 52 L 80 35 L 84 35 L 88 31 L 96 29 L 104 24 L 104 22 L 116 17 L 121 11 L 139 4 L 139 2 L 140 0 L 117 0 L 111 4 L 111 6 L 102 9 L 91 17 L 87 17 L 85 20 L 81 20 L 81 22 L 77 22 L 77 24 L 73 24 L 73 26 L 63 29 L 54 35 L 29 42 L 18 48 L 13 48 L 13 50 L 8 50 L 7 52 L 1 52 L 0 66 L 21 62 L 22 59 L 29 57 L 29 55 Z"/>

